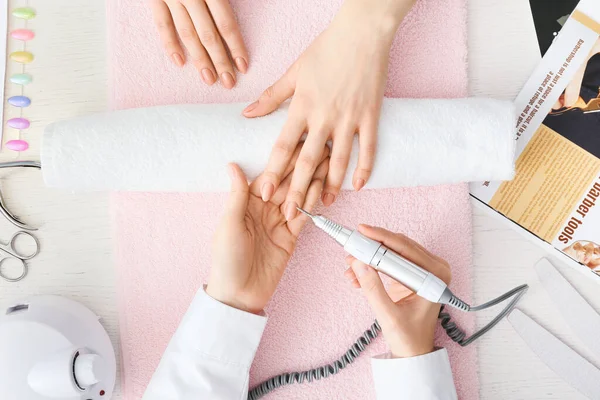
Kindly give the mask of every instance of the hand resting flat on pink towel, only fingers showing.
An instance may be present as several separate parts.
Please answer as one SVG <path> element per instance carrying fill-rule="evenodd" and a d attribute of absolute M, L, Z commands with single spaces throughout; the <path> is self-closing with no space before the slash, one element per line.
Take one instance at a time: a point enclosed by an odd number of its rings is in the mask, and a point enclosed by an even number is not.
<path fill-rule="evenodd" d="M 234 65 L 248 70 L 248 51 L 229 0 L 149 0 L 167 55 L 182 67 L 184 47 L 202 80 L 235 86 Z"/>

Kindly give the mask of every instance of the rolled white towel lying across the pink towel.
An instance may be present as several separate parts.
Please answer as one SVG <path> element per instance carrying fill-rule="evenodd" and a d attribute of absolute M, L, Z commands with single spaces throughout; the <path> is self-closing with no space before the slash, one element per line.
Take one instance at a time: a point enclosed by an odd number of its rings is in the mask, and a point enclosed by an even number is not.
<path fill-rule="evenodd" d="M 244 104 L 131 109 L 47 127 L 42 171 L 50 187 L 83 191 L 223 192 L 225 165 L 250 179 L 264 169 L 287 110 L 246 119 Z M 514 107 L 483 99 L 385 99 L 367 188 L 508 180 Z M 352 188 L 354 149 L 343 184 Z"/>

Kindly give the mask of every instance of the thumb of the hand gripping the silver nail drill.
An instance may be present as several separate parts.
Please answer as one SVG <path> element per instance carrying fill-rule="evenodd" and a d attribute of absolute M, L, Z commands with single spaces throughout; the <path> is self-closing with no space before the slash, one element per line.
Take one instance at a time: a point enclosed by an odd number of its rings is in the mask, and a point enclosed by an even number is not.
<path fill-rule="evenodd" d="M 377 271 L 358 260 L 352 262 L 352 270 L 377 319 L 389 319 L 396 305 L 385 291 Z"/>

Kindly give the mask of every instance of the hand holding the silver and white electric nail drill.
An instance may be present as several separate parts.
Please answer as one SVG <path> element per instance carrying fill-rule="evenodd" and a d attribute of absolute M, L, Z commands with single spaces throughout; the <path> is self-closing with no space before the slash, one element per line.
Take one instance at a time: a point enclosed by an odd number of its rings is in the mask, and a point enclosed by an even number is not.
<path fill-rule="evenodd" d="M 359 231 L 432 272 L 446 284 L 450 283 L 448 263 L 406 236 L 366 225 L 361 225 Z M 404 358 L 431 353 L 440 305 L 417 296 L 396 281 L 386 291 L 373 268 L 350 256 L 346 262 L 352 268 L 345 272 L 345 276 L 354 287 L 362 287 L 392 355 Z"/>

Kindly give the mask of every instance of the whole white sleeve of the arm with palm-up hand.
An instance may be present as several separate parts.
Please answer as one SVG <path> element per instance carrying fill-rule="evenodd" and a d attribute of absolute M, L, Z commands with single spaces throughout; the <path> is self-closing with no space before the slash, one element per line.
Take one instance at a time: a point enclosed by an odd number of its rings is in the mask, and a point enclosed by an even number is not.
<path fill-rule="evenodd" d="M 246 400 L 248 373 L 267 318 L 198 291 L 143 400 Z"/>

